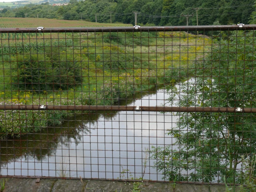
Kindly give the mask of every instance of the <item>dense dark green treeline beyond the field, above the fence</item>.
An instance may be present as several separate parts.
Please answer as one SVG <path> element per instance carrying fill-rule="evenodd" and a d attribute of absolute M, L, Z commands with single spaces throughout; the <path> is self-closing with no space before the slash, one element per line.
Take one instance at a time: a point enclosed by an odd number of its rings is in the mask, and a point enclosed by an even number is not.
<path fill-rule="evenodd" d="M 134 12 L 138 12 L 140 25 L 180 26 L 186 25 L 186 14 L 194 15 L 188 24 L 197 25 L 196 12 L 199 25 L 248 24 L 254 11 L 254 0 L 70 0 L 65 6 L 7 7 L 0 16 L 134 24 Z"/>

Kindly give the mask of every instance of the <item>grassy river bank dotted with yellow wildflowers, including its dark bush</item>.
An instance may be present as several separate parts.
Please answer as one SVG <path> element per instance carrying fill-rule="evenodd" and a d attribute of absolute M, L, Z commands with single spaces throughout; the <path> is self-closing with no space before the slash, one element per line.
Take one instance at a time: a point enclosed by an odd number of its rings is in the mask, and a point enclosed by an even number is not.
<path fill-rule="evenodd" d="M 114 105 L 175 84 L 211 45 L 185 32 L 1 34 L 0 104 Z M 74 111 L 0 111 L 0 133 L 55 126 Z M 81 113 L 81 111 L 80 111 Z"/>

